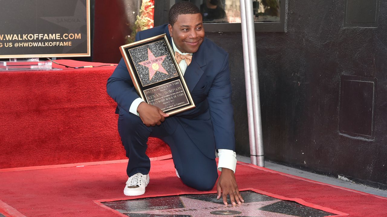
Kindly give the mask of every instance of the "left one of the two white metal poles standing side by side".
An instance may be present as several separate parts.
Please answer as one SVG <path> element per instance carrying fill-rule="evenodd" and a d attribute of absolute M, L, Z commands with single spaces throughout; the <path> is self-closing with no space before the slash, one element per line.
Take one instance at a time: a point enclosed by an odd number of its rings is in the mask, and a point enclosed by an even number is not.
<path fill-rule="evenodd" d="M 243 44 L 243 61 L 245 63 L 245 84 L 246 84 L 246 102 L 247 102 L 247 121 L 248 121 L 248 140 L 250 143 L 250 161 L 257 165 L 257 154 L 255 151 L 254 137 L 254 119 L 253 119 L 253 99 L 251 97 L 250 81 L 250 61 L 248 56 L 248 41 L 246 27 L 245 0 L 240 0 L 241 7 L 241 25 L 242 25 L 242 44 Z"/>

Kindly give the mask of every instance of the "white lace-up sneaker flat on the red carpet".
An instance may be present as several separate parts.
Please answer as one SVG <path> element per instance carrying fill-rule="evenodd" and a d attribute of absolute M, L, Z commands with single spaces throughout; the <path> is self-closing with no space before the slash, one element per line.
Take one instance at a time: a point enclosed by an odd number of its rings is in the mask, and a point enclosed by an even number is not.
<path fill-rule="evenodd" d="M 141 173 L 136 173 L 128 178 L 123 194 L 127 196 L 142 195 L 145 193 L 145 187 L 148 183 L 149 174 L 142 175 Z"/>

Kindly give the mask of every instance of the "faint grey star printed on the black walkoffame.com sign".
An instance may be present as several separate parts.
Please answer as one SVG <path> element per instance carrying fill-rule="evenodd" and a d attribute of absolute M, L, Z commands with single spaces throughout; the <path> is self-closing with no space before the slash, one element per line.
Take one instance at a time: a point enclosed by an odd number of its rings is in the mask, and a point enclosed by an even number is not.
<path fill-rule="evenodd" d="M 64 27 L 68 30 L 68 34 L 78 34 L 81 32 L 81 28 L 87 24 L 86 20 L 86 6 L 78 0 L 77 5 L 75 6 L 74 14 L 67 17 L 41 17 L 48 22 L 57 24 L 61 27 Z M 86 35 L 85 35 L 86 36 Z M 86 37 L 81 37 L 80 39 L 71 40 L 71 46 L 64 46 L 63 53 L 77 47 L 82 42 L 86 41 Z"/>

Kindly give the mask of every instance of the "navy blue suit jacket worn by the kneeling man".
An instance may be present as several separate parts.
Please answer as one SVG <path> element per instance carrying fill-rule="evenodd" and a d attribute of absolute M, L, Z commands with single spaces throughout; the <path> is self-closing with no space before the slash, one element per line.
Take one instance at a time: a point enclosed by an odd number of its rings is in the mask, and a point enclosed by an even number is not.
<path fill-rule="evenodd" d="M 164 33 L 172 44 L 168 24 L 138 32 L 136 41 Z M 204 38 L 199 50 L 192 55 L 184 79 L 196 107 L 174 117 L 207 157 L 214 159 L 215 149 L 235 151 L 228 53 Z M 118 109 L 129 112 L 132 102 L 139 98 L 123 59 L 108 79 L 106 87 L 108 94 L 117 102 Z"/>

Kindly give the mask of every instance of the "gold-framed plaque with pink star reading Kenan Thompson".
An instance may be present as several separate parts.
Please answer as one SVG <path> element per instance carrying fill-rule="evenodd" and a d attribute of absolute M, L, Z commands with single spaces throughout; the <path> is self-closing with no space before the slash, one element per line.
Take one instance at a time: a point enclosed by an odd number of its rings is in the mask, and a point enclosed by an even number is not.
<path fill-rule="evenodd" d="M 120 51 L 146 103 L 170 115 L 195 108 L 165 34 L 123 45 Z"/>

